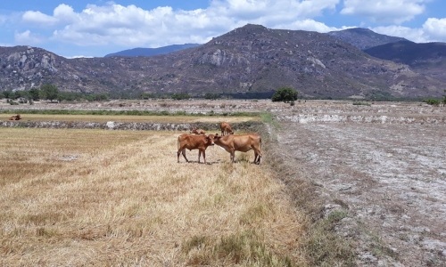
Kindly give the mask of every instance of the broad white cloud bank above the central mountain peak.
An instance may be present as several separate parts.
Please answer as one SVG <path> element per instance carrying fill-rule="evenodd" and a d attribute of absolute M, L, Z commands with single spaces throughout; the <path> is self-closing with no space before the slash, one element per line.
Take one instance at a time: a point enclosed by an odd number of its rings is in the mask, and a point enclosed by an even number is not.
<path fill-rule="evenodd" d="M 169 6 L 144 10 L 134 4 L 88 4 L 74 12 L 67 4 L 53 16 L 25 12 L 24 22 L 54 26 L 51 41 L 77 45 L 119 44 L 125 47 L 157 47 L 167 44 L 205 43 L 247 23 L 268 28 L 300 28 L 327 31 L 312 20 L 324 10 L 335 10 L 340 0 L 212 0 L 206 9 L 173 11 Z M 288 26 L 288 27 L 287 27 Z"/>

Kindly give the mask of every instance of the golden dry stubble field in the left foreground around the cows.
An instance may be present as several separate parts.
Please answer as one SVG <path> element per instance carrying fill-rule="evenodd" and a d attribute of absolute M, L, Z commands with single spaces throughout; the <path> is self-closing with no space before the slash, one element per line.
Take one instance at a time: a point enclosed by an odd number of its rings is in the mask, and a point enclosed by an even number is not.
<path fill-rule="evenodd" d="M 178 164 L 178 134 L 1 128 L 0 265 L 307 265 L 268 167 Z"/>

